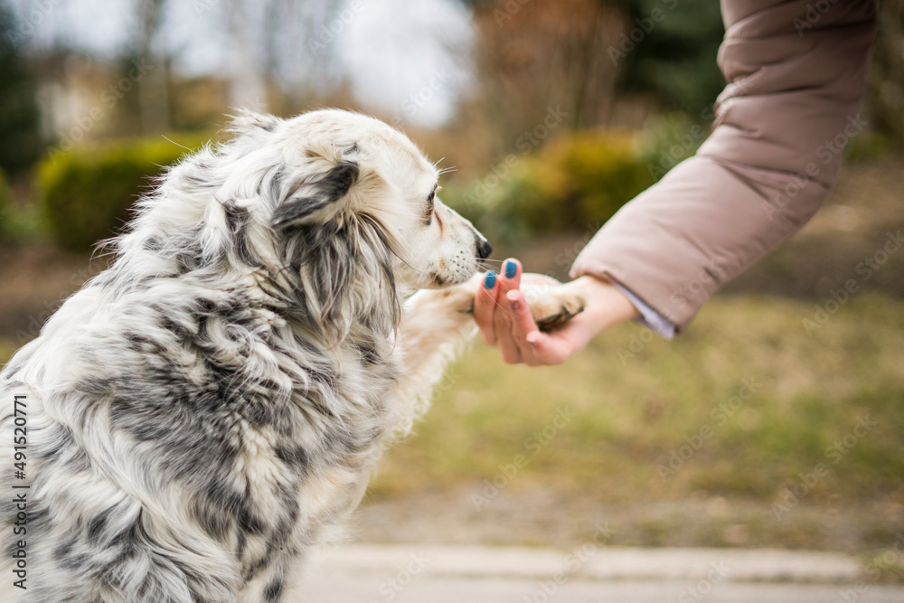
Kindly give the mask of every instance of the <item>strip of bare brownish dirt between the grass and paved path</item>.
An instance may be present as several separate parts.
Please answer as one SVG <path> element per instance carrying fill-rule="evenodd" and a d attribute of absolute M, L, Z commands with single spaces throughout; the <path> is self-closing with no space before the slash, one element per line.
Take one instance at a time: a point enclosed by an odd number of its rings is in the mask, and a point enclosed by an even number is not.
<path fill-rule="evenodd" d="M 768 547 L 858 552 L 889 546 L 899 504 L 807 504 L 777 519 L 762 501 L 695 495 L 681 501 L 598 504 L 539 487 L 503 490 L 479 509 L 484 485 L 365 501 L 353 522 L 363 542 L 554 546 L 570 549 L 606 524 L 608 544 Z M 759 528 L 762 529 L 759 529 Z"/>

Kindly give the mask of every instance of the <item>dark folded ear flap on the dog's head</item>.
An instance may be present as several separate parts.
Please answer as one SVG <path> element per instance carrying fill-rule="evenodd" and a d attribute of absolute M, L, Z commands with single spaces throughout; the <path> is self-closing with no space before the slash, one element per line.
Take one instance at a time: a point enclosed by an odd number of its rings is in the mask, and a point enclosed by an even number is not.
<path fill-rule="evenodd" d="M 337 203 L 348 194 L 358 181 L 358 164 L 341 160 L 321 177 L 301 184 L 273 212 L 271 225 L 275 229 L 303 224 L 307 221 L 325 221 L 340 208 Z"/>

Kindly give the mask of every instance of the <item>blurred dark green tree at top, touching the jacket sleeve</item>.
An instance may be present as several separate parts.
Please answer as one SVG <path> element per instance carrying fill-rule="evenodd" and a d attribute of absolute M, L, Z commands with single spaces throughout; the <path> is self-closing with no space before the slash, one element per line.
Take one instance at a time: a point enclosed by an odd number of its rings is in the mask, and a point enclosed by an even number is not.
<path fill-rule="evenodd" d="M 699 120 L 725 86 L 716 64 L 725 33 L 719 3 L 625 4 L 630 16 L 618 42 L 618 90 L 652 93 L 662 107 Z"/>

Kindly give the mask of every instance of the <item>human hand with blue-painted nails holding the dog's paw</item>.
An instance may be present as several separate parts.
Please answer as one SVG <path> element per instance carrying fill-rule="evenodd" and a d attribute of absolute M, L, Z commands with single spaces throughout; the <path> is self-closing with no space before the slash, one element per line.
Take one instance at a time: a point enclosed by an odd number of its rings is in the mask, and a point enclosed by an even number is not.
<path fill-rule="evenodd" d="M 562 287 L 582 297 L 584 311 L 560 328 L 543 333 L 531 316 L 522 282 L 534 287 Z M 561 284 L 554 278 L 522 274 L 517 259 L 507 259 L 503 273 L 487 272 L 477 288 L 474 318 L 486 344 L 499 348 L 509 364 L 560 364 L 608 327 L 637 316 L 636 308 L 611 283 L 583 276 Z"/>

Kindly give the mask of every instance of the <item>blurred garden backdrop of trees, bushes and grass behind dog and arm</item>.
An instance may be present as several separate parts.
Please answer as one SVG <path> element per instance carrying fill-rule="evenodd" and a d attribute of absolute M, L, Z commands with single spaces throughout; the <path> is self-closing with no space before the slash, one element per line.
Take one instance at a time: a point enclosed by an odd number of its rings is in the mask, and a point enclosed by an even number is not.
<path fill-rule="evenodd" d="M 567 547 L 608 522 L 904 576 L 881 556 L 904 531 L 904 4 L 880 11 L 869 127 L 814 221 L 673 342 L 623 325 L 542 370 L 476 345 L 382 464 L 363 539 Z M 0 363 L 235 107 L 391 122 L 454 168 L 444 199 L 495 258 L 567 278 L 707 136 L 722 33 L 715 0 L 2 0 Z"/>

